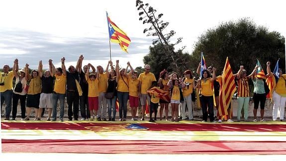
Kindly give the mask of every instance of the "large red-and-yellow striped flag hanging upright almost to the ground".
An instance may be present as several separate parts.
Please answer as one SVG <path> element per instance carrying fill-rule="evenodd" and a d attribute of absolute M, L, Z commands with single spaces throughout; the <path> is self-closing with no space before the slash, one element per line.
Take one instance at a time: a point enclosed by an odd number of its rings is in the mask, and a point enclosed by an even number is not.
<path fill-rule="evenodd" d="M 236 87 L 234 77 L 227 57 L 222 73 L 221 86 L 219 90 L 219 116 L 228 115 L 227 109 L 235 91 Z"/>

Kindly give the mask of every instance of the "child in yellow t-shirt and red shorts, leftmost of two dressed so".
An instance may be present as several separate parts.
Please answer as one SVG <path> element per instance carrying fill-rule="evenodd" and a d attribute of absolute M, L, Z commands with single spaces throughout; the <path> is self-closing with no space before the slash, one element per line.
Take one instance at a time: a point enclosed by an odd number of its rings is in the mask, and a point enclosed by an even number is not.
<path fill-rule="evenodd" d="M 96 76 L 95 74 L 90 74 L 90 68 L 92 64 L 88 64 L 88 70 L 86 74 L 86 80 L 88 81 L 89 84 L 89 94 L 88 94 L 88 99 L 89 99 L 89 110 L 91 113 L 91 119 L 90 121 L 94 121 L 95 115 L 97 114 L 98 110 L 98 76 L 99 72 L 97 72 Z M 98 66 L 97 66 L 97 71 L 98 71 Z"/>

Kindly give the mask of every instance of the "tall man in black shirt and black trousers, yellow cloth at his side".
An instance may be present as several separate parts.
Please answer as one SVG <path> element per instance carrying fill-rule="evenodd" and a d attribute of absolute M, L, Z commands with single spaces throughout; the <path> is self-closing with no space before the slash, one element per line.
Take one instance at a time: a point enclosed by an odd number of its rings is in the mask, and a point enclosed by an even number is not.
<path fill-rule="evenodd" d="M 82 55 L 81 55 L 82 56 Z M 68 117 L 69 121 L 78 120 L 79 118 L 79 92 L 77 89 L 76 80 L 80 81 L 79 64 L 81 56 L 77 62 L 76 68 L 71 65 L 67 71 L 67 102 L 68 102 Z"/>

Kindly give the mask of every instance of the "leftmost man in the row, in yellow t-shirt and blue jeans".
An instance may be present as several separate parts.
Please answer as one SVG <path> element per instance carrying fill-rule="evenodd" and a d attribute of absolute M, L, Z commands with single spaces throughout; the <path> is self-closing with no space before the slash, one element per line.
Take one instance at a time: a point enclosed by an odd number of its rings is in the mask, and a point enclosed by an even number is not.
<path fill-rule="evenodd" d="M 18 59 L 14 60 L 13 71 L 9 71 L 9 65 L 3 66 L 3 72 L 0 72 L 0 102 L 1 102 L 1 111 L 3 103 L 5 102 L 5 119 L 9 120 L 11 108 L 12 108 L 12 94 L 13 94 L 13 78 L 14 72 L 18 72 L 16 69 L 16 64 L 18 64 Z M 17 66 L 18 67 L 18 66 Z"/>

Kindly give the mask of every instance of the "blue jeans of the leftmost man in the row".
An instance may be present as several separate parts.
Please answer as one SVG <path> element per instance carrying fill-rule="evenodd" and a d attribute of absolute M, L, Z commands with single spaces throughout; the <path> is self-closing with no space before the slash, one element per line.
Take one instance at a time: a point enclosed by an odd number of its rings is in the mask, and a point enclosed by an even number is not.
<path fill-rule="evenodd" d="M 1 99 L 1 111 L 2 111 L 2 106 L 3 103 L 5 102 L 6 107 L 5 107 L 5 118 L 10 117 L 10 113 L 12 110 L 12 95 L 13 91 L 12 90 L 6 90 L 5 92 L 0 92 L 0 99 Z"/>

